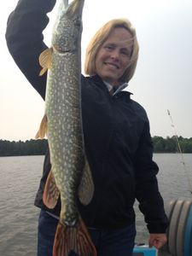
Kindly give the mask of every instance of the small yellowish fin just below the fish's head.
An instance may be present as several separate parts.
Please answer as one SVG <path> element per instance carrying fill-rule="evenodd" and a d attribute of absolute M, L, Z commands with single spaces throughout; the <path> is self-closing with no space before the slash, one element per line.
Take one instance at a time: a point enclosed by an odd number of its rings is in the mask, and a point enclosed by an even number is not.
<path fill-rule="evenodd" d="M 51 67 L 51 61 L 52 61 L 52 53 L 53 48 L 45 49 L 38 57 L 39 64 L 41 65 L 42 70 L 39 73 L 39 76 L 43 76 L 44 73 L 47 72 L 47 70 Z"/>

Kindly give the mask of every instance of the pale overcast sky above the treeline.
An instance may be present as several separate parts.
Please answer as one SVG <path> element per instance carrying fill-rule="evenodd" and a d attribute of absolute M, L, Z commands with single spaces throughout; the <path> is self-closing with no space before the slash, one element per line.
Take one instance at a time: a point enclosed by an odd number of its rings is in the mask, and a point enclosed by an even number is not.
<path fill-rule="evenodd" d="M 5 44 L 6 21 L 16 3 L 17 0 L 5 1 L 0 9 L 0 139 L 25 141 L 38 131 L 44 102 L 20 73 Z M 57 6 L 44 31 L 48 45 L 56 10 Z M 140 55 L 127 90 L 146 109 L 151 135 L 174 135 L 169 109 L 177 135 L 192 137 L 192 1 L 85 0 L 82 61 L 96 30 L 119 17 L 131 20 L 137 30 Z"/>

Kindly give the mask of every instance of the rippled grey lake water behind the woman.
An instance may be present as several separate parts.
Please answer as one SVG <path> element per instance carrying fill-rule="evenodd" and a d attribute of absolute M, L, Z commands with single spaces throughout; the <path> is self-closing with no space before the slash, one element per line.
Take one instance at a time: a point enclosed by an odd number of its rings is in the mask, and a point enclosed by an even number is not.
<path fill-rule="evenodd" d="M 192 154 L 154 154 L 160 167 L 160 193 L 167 209 L 172 199 L 189 199 Z M 0 255 L 35 256 L 39 209 L 33 206 L 44 156 L 0 157 Z M 137 209 L 137 242 L 148 241 L 143 215 Z"/>

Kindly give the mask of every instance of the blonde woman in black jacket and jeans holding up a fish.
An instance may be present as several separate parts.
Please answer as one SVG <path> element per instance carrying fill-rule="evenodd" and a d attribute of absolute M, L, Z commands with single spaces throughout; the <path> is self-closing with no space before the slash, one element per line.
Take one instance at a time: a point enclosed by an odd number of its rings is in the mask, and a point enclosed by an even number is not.
<path fill-rule="evenodd" d="M 39 55 L 47 48 L 43 31 L 55 0 L 20 0 L 9 15 L 6 40 L 10 54 L 26 79 L 45 99 L 47 74 L 39 76 Z M 81 76 L 84 150 L 95 192 L 92 201 L 78 207 L 98 256 L 128 256 L 134 247 L 135 200 L 144 214 L 149 246 L 166 243 L 168 220 L 158 189 L 158 166 L 144 108 L 125 91 L 137 66 L 136 31 L 129 20 L 109 20 L 96 32 L 86 51 Z M 50 171 L 49 148 L 44 160 L 35 206 L 38 220 L 38 256 L 52 255 L 61 210 L 45 207 L 44 184 Z M 70 254 L 71 255 L 71 254 Z M 72 254 L 73 255 L 73 254 Z"/>

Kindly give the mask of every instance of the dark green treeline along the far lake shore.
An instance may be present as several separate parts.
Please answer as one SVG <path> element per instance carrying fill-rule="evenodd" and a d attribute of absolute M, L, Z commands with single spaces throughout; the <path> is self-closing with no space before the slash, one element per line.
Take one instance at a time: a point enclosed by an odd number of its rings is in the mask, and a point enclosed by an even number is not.
<path fill-rule="evenodd" d="M 154 153 L 177 153 L 179 152 L 178 143 L 183 153 L 192 153 L 192 137 L 152 137 L 154 143 Z M 177 141 L 178 140 L 178 141 Z M 48 141 L 30 140 L 26 142 L 9 142 L 0 140 L 0 156 L 15 155 L 41 155 L 45 154 Z"/>

